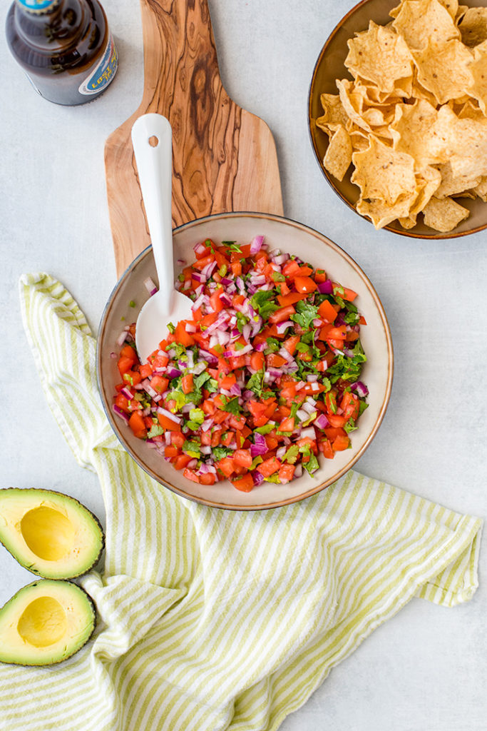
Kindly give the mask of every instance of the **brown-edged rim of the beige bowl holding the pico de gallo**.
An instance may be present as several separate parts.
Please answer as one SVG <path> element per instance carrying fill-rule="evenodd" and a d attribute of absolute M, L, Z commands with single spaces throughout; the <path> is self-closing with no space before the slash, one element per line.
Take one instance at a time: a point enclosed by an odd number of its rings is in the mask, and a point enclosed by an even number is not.
<path fill-rule="evenodd" d="M 367 288 L 369 289 L 370 294 L 372 295 L 373 300 L 375 301 L 375 305 L 377 306 L 377 309 L 380 313 L 380 319 L 383 322 L 383 328 L 384 333 L 386 336 L 386 344 L 387 344 L 387 351 L 388 351 L 388 366 L 387 366 L 387 380 L 386 380 L 386 390 L 385 395 L 383 398 L 383 403 L 380 406 L 380 412 L 377 415 L 377 419 L 375 420 L 375 423 L 373 425 L 372 430 L 369 433 L 369 436 L 367 437 L 367 440 L 362 444 L 360 450 L 356 453 L 356 455 L 351 458 L 348 463 L 342 467 L 337 473 L 333 474 L 332 477 L 326 478 L 323 482 L 319 482 L 318 485 L 313 485 L 313 487 L 310 490 L 307 490 L 304 493 L 300 493 L 299 495 L 290 496 L 288 499 L 278 500 L 273 503 L 266 503 L 266 504 L 250 504 L 250 505 L 237 505 L 237 504 L 226 504 L 223 502 L 217 502 L 210 499 L 203 499 L 196 497 L 192 495 L 191 493 L 187 493 L 180 488 L 178 488 L 176 485 L 172 485 L 169 481 L 166 481 L 162 479 L 158 474 L 156 474 L 150 467 L 148 467 L 141 458 L 137 455 L 136 452 L 130 447 L 129 444 L 126 444 L 122 437 L 120 436 L 120 433 L 116 426 L 115 418 L 112 413 L 112 409 L 110 407 L 110 404 L 107 403 L 107 401 L 104 398 L 104 389 L 102 387 L 102 380 L 101 380 L 101 341 L 104 336 L 105 328 L 107 325 L 107 318 L 110 314 L 110 310 L 114 304 L 115 301 L 115 295 L 118 292 L 118 289 L 121 287 L 124 281 L 130 276 L 131 271 L 136 267 L 136 265 L 139 263 L 142 258 L 147 257 L 147 255 L 150 252 L 151 246 L 147 246 L 146 249 L 140 252 L 140 254 L 135 257 L 135 259 L 131 262 L 131 264 L 126 268 L 126 270 L 122 273 L 120 278 L 118 279 L 117 283 L 115 284 L 115 287 L 113 287 L 112 292 L 110 292 L 110 296 L 107 300 L 106 305 L 104 306 L 104 310 L 101 314 L 100 322 L 99 322 L 99 328 L 96 336 L 96 381 L 99 388 L 99 395 L 101 399 L 101 405 L 103 406 L 105 415 L 107 416 L 107 420 L 110 423 L 110 427 L 112 428 L 112 431 L 115 433 L 115 436 L 117 437 L 118 441 L 122 445 L 123 449 L 126 450 L 126 452 L 129 452 L 129 455 L 131 455 L 131 458 L 134 459 L 134 461 L 141 467 L 146 474 L 148 474 L 150 477 L 153 478 L 153 480 L 156 480 L 160 485 L 163 485 L 165 488 L 168 488 L 172 492 L 176 493 L 177 495 L 186 498 L 188 500 L 191 500 L 193 502 L 206 505 L 207 507 L 215 507 L 219 508 L 221 510 L 235 510 L 235 511 L 256 511 L 256 510 L 271 510 L 272 508 L 277 507 L 284 507 L 285 505 L 290 505 L 296 502 L 300 502 L 304 499 L 307 499 L 316 493 L 321 492 L 325 488 L 327 488 L 329 485 L 331 485 L 333 482 L 336 482 L 337 480 L 342 477 L 346 472 L 348 472 L 353 464 L 358 461 L 359 458 L 364 454 L 364 452 L 369 447 L 369 444 L 372 442 L 372 439 L 375 438 L 375 435 L 377 434 L 378 429 L 380 428 L 381 423 L 383 422 L 383 418 L 386 414 L 389 400 L 391 398 L 391 391 L 392 391 L 392 383 L 394 379 L 394 348 L 392 344 L 392 337 L 391 337 L 391 328 L 388 323 L 388 319 L 386 316 L 386 311 L 383 308 L 383 304 L 380 300 L 379 295 L 377 295 L 377 292 L 375 290 L 375 287 L 372 285 L 372 282 L 369 280 L 367 274 L 362 270 L 360 265 L 353 259 L 353 257 L 350 256 L 350 254 L 345 251 L 345 249 L 342 249 L 341 246 L 339 246 L 337 243 L 334 243 L 331 239 L 329 239 L 326 235 L 319 232 L 318 230 L 313 229 L 310 226 L 307 226 L 307 224 L 303 224 L 300 221 L 296 221 L 294 219 L 286 218 L 285 216 L 279 216 L 275 213 L 261 213 L 261 212 L 254 212 L 254 211 L 227 211 L 223 213 L 212 213 L 209 216 L 203 216 L 200 219 L 194 219 L 193 221 L 188 221 L 185 224 L 181 224 L 180 226 L 173 229 L 173 235 L 177 234 L 178 232 L 185 230 L 188 227 L 195 226 L 196 224 L 204 223 L 206 221 L 211 221 L 212 219 L 225 219 L 225 218 L 242 218 L 242 217 L 248 217 L 248 218 L 260 218 L 260 219 L 271 219 L 275 221 L 281 221 L 285 224 L 291 224 L 291 226 L 294 226 L 300 230 L 303 230 L 304 232 L 310 233 L 314 235 L 316 238 L 319 238 L 320 240 L 326 240 L 326 243 L 328 245 L 331 245 L 334 247 L 338 253 L 342 255 L 342 257 L 345 258 L 345 260 L 358 272 L 358 274 L 361 276 L 362 279 L 364 279 L 365 284 L 367 285 Z"/>

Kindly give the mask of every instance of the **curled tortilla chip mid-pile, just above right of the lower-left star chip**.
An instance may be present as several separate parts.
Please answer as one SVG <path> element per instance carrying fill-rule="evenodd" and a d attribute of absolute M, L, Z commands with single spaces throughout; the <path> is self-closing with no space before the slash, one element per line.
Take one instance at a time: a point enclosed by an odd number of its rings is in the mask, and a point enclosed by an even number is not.
<path fill-rule="evenodd" d="M 437 117 L 437 110 L 425 99 L 396 105 L 396 116 L 391 124 L 394 150 L 411 155 L 418 170 L 448 159 L 445 148 L 434 144 L 431 137 Z"/>

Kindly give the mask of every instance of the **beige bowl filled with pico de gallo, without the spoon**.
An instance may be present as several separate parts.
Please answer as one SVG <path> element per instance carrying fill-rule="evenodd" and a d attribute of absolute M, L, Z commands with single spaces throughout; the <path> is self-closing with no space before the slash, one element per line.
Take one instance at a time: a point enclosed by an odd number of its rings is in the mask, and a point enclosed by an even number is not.
<path fill-rule="evenodd" d="M 305 499 L 361 457 L 388 406 L 386 313 L 340 246 L 266 213 L 173 232 L 192 318 L 142 363 L 137 315 L 157 291 L 149 247 L 115 286 L 97 375 L 110 425 L 139 466 L 185 498 L 229 510 Z"/>

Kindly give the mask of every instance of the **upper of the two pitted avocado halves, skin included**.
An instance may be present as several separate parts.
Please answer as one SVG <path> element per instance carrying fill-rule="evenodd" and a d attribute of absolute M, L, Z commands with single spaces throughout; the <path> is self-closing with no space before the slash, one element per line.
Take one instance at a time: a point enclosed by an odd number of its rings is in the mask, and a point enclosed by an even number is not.
<path fill-rule="evenodd" d="M 96 564 L 104 533 L 98 518 L 68 495 L 41 488 L 4 488 L 0 541 L 32 573 L 70 579 Z"/>

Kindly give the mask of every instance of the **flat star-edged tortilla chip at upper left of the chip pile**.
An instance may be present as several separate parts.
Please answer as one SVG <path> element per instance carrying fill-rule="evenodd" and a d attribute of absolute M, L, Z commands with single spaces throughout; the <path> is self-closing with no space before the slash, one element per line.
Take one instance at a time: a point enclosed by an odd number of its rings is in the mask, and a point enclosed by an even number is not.
<path fill-rule="evenodd" d="M 394 91 L 396 82 L 413 75 L 413 59 L 404 39 L 391 28 L 377 26 L 348 41 L 345 66 L 350 73 L 375 83 L 380 91 Z"/>

